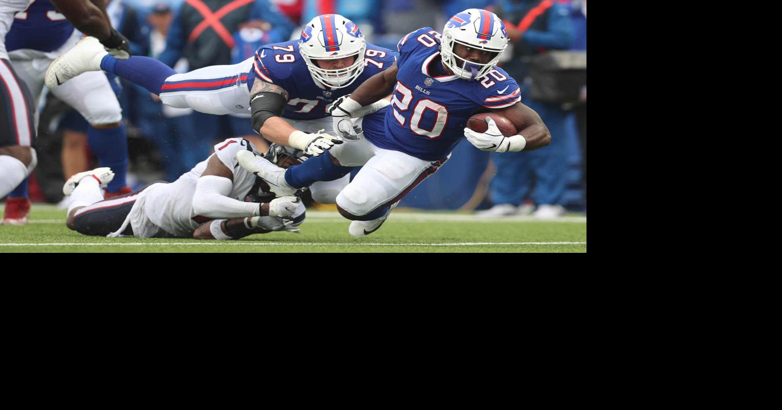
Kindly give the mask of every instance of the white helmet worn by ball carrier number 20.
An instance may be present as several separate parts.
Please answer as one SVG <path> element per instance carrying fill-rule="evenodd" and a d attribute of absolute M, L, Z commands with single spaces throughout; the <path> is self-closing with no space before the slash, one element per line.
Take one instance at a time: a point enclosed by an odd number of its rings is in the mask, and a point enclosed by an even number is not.
<path fill-rule="evenodd" d="M 497 55 L 486 64 L 471 62 L 456 55 L 454 52 L 456 43 L 497 53 Z M 496 14 L 483 9 L 466 9 L 451 17 L 445 24 L 440 55 L 443 64 L 448 66 L 457 77 L 476 80 L 497 66 L 500 55 L 507 47 L 508 31 Z"/>

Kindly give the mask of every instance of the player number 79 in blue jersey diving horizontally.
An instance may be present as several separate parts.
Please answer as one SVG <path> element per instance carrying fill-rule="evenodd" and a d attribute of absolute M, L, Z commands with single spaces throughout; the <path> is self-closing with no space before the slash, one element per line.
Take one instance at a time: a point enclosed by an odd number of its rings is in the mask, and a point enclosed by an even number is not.
<path fill-rule="evenodd" d="M 52 63 L 46 84 L 57 87 L 79 73 L 104 70 L 160 95 L 166 105 L 208 114 L 244 114 L 268 141 L 318 156 L 343 143 L 340 137 L 321 132 L 332 128 L 328 106 L 395 61 L 396 52 L 368 44 L 355 23 L 339 14 L 325 14 L 310 20 L 299 40 L 265 45 L 239 64 L 182 74 L 147 57 L 114 59 L 87 37 Z M 368 105 L 362 113 L 385 105 L 388 102 Z M 334 203 L 348 177 L 343 174 L 339 181 L 330 181 L 310 186 L 316 201 Z"/>

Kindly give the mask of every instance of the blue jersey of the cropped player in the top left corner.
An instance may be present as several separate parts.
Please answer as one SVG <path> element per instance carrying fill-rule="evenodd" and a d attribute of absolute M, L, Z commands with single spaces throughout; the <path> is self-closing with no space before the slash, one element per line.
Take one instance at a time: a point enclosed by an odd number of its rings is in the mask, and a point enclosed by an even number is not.
<path fill-rule="evenodd" d="M 27 10 L 14 16 L 13 26 L 5 36 L 5 46 L 9 52 L 20 48 L 53 52 L 65 44 L 74 30 L 74 25 L 52 2 L 35 0 Z"/>

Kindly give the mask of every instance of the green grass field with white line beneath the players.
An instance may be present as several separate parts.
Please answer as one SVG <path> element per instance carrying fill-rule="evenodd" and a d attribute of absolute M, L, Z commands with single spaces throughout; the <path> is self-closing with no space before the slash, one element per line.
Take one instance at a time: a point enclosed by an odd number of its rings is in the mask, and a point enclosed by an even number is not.
<path fill-rule="evenodd" d="M 0 207 L 2 216 L 2 207 Z M 0 225 L 4 252 L 586 252 L 587 218 L 542 222 L 526 216 L 480 219 L 460 212 L 396 209 L 360 239 L 337 212 L 307 211 L 301 234 L 274 232 L 239 241 L 88 237 L 65 226 L 65 211 L 33 205 L 27 226 Z"/>

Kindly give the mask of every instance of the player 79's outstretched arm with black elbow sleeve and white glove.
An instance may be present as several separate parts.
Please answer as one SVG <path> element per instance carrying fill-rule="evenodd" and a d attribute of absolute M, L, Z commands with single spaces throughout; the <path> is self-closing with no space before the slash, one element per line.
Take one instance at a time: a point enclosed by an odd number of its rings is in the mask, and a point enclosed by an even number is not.
<path fill-rule="evenodd" d="M 288 91 L 256 77 L 250 90 L 249 106 L 253 116 L 253 130 L 267 140 L 302 150 L 307 155 L 321 155 L 334 144 L 343 141 L 328 134 L 307 134 L 293 128 L 282 118 L 288 104 Z"/>

